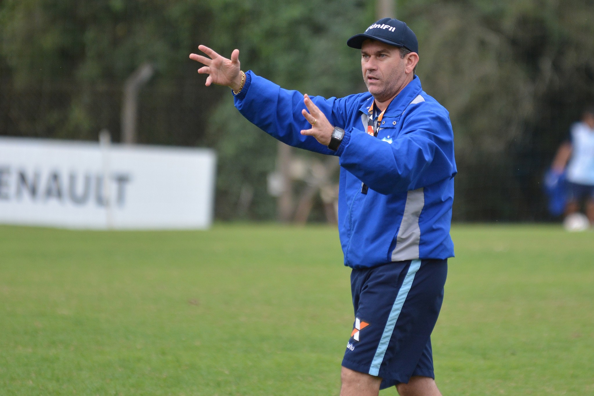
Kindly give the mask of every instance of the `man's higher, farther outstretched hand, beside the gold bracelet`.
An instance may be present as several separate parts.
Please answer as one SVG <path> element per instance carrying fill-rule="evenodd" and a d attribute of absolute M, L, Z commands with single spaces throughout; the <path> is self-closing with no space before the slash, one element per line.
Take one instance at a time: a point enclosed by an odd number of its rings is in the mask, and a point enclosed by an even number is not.
<path fill-rule="evenodd" d="M 207 46 L 199 45 L 198 49 L 206 53 L 210 58 L 195 53 L 191 53 L 189 58 L 204 65 L 198 69 L 198 73 L 208 74 L 205 85 L 207 87 L 210 86 L 210 84 L 225 85 L 233 91 L 238 91 L 239 85 L 241 84 L 239 50 L 234 49 L 231 53 L 231 59 L 227 59 Z"/>

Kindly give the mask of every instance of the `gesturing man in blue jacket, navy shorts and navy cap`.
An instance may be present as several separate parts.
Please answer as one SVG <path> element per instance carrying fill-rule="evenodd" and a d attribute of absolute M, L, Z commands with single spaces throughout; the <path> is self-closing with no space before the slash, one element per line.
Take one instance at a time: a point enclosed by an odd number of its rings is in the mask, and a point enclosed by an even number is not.
<path fill-rule="evenodd" d="M 347 45 L 361 49 L 368 92 L 336 99 L 289 91 L 206 46 L 206 85 L 233 90 L 235 107 L 286 144 L 340 158 L 339 232 L 352 268 L 355 321 L 341 396 L 440 395 L 430 335 L 443 301 L 454 197 L 454 136 L 447 110 L 415 75 L 418 42 L 384 18 Z"/>

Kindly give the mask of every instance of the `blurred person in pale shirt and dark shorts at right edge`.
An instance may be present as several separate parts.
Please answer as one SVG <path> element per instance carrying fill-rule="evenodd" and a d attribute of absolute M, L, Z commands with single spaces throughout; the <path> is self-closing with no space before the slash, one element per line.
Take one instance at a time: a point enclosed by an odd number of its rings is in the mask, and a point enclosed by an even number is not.
<path fill-rule="evenodd" d="M 594 106 L 586 107 L 582 120 L 571 125 L 570 136 L 559 147 L 552 170 L 567 172 L 567 217 L 579 213 L 585 201 L 586 216 L 594 225 Z"/>

